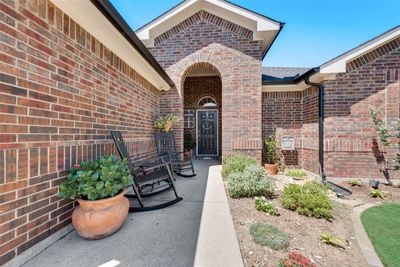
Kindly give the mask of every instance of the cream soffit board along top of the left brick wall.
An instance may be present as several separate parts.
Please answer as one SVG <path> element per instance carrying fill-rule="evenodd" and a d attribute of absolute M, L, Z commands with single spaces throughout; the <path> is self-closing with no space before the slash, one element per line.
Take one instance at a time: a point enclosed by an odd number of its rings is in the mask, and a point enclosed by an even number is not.
<path fill-rule="evenodd" d="M 51 0 L 160 91 L 170 86 L 89 0 Z"/>

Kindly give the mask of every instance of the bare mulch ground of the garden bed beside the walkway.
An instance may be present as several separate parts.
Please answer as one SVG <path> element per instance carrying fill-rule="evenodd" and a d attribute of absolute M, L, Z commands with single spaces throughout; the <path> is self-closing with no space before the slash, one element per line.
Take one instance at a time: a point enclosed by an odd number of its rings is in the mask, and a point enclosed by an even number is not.
<path fill-rule="evenodd" d="M 289 252 L 295 251 L 313 260 L 317 266 L 368 266 L 362 255 L 355 238 L 353 223 L 351 221 L 352 208 L 335 202 L 332 221 L 305 217 L 286 209 L 279 203 L 279 195 L 285 184 L 303 183 L 294 181 L 283 175 L 277 176 L 277 195 L 272 202 L 278 207 L 281 216 L 275 217 L 264 212 L 257 211 L 254 200 L 251 198 L 229 198 L 233 222 L 239 240 L 240 249 L 247 266 L 277 266 L 277 260 L 285 257 Z M 367 184 L 362 187 L 351 187 L 344 181 L 339 183 L 353 191 L 352 198 L 361 199 L 364 202 L 400 202 L 400 189 L 381 186 L 387 191 L 385 199 L 373 199 L 369 195 Z M 281 251 L 274 251 L 269 247 L 262 247 L 252 240 L 249 227 L 256 222 L 265 222 L 278 227 L 290 236 L 290 246 Z M 346 249 L 332 247 L 324 244 L 320 239 L 321 232 L 329 232 L 339 237 L 346 243 Z"/>

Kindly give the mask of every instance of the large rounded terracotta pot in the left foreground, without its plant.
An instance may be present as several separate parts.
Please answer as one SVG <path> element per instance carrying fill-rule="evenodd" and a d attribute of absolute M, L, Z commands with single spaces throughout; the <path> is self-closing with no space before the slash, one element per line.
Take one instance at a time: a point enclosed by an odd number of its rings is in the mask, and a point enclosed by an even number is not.
<path fill-rule="evenodd" d="M 101 239 L 116 232 L 124 223 L 129 211 L 129 201 L 123 190 L 118 195 L 102 200 L 78 199 L 72 213 L 72 225 L 86 239 Z"/>

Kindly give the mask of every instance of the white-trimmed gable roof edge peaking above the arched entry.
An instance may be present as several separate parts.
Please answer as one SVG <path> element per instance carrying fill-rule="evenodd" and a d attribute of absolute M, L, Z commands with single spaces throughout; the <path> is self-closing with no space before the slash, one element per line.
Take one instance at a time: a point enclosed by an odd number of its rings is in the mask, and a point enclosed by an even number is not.
<path fill-rule="evenodd" d="M 157 36 L 201 10 L 253 31 L 253 40 L 263 41 L 263 57 L 284 26 L 282 22 L 225 0 L 185 0 L 137 29 L 136 33 L 146 46 L 152 47 Z"/>

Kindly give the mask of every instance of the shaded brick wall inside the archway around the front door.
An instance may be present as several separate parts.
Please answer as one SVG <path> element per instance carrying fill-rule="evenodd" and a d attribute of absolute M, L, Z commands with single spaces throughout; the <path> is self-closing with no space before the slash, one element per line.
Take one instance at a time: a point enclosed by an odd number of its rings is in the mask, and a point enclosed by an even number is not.
<path fill-rule="evenodd" d="M 187 77 L 184 85 L 184 109 L 201 109 L 197 106 L 199 100 L 205 96 L 210 96 L 217 101 L 218 104 L 218 132 L 222 131 L 222 85 L 221 78 L 218 76 L 209 77 Z M 196 138 L 196 128 L 185 129 L 190 132 L 193 138 Z M 219 137 L 219 152 L 222 148 L 222 137 Z"/>

